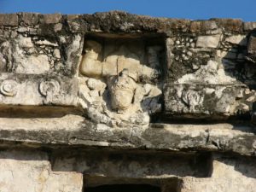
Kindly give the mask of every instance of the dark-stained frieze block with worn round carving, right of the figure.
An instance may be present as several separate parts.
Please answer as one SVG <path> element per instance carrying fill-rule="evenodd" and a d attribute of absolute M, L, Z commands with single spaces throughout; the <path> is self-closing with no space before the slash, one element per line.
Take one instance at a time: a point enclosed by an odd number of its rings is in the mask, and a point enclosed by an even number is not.
<path fill-rule="evenodd" d="M 207 84 L 166 84 L 164 90 L 166 113 L 174 116 L 209 119 L 248 114 L 255 102 L 254 92 L 244 86 Z"/>

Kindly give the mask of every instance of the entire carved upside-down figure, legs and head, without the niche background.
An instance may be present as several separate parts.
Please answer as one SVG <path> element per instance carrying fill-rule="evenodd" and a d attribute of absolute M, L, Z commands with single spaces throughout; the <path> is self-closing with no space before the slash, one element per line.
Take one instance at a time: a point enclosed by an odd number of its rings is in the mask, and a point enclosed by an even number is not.
<path fill-rule="evenodd" d="M 119 44 L 101 61 L 102 44 L 86 41 L 79 101 L 88 117 L 109 126 L 148 125 L 149 115 L 161 110 L 160 84 L 153 83 L 160 74 L 160 50 L 147 47 L 143 56 Z"/>

